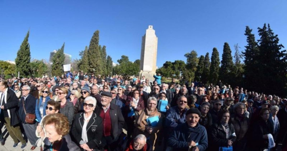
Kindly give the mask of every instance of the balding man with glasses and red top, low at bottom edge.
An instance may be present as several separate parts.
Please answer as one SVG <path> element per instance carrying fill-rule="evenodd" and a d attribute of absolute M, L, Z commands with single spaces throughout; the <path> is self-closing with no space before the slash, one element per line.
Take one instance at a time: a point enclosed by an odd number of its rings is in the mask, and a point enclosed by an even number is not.
<path fill-rule="evenodd" d="M 146 136 L 143 134 L 137 135 L 133 140 L 125 139 L 123 145 L 117 151 L 152 151 L 150 144 L 146 142 Z"/>

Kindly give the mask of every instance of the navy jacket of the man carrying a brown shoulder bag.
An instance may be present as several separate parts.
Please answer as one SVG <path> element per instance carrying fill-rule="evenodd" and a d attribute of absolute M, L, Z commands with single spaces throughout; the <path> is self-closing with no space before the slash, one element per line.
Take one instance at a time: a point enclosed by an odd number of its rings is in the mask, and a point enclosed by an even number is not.
<path fill-rule="evenodd" d="M 22 101 L 24 100 L 24 97 L 21 97 L 20 102 L 18 103 L 18 115 L 20 118 L 20 121 L 22 123 L 26 123 L 25 122 L 25 112 L 23 109 L 23 103 Z M 34 96 L 32 96 L 32 94 L 29 94 L 26 98 L 26 101 L 24 101 L 24 105 L 25 105 L 25 109 L 26 109 L 26 113 L 31 113 L 31 114 L 35 114 L 35 108 L 36 108 L 36 98 L 34 98 Z"/>

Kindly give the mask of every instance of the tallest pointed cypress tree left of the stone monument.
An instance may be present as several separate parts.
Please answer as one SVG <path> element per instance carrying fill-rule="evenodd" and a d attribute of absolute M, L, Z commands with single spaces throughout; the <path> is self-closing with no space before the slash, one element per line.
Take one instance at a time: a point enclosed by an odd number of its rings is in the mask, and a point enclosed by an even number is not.
<path fill-rule="evenodd" d="M 102 74 L 102 55 L 99 50 L 99 30 L 96 30 L 90 41 L 88 49 L 88 72 L 95 72 L 96 74 Z"/>

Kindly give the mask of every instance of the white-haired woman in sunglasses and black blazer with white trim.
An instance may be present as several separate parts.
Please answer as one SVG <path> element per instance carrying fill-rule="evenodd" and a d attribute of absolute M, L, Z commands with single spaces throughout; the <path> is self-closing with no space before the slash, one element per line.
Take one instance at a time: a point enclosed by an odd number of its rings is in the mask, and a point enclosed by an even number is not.
<path fill-rule="evenodd" d="M 84 100 L 84 113 L 77 113 L 71 134 L 81 150 L 100 150 L 103 135 L 102 118 L 94 113 L 96 98 L 88 96 Z"/>

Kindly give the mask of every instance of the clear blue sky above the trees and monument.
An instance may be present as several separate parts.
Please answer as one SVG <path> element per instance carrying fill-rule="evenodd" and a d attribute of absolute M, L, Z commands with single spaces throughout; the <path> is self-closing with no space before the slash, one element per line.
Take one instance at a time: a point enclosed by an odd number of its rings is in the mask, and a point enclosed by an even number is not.
<path fill-rule="evenodd" d="M 79 59 L 96 30 L 100 45 L 106 45 L 113 62 L 122 55 L 140 59 L 141 37 L 153 25 L 158 37 L 157 66 L 165 61 L 184 60 L 185 53 L 198 57 L 213 47 L 220 58 L 224 42 L 232 55 L 234 44 L 246 45 L 245 26 L 253 29 L 269 23 L 280 43 L 287 46 L 287 1 L 232 0 L 50 0 L 0 1 L 0 60 L 15 60 L 30 29 L 31 58 L 49 59 L 61 48 Z"/>

